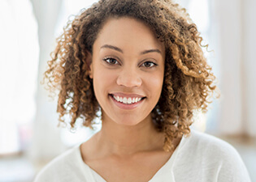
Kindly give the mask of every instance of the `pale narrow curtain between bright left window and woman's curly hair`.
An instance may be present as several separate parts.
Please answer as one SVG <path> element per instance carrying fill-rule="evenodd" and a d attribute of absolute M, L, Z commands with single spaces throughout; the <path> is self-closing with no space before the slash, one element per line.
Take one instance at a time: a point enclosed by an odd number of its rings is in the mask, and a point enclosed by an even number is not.
<path fill-rule="evenodd" d="M 28 156 L 33 160 L 52 159 L 63 151 L 58 125 L 57 100 L 48 97 L 49 92 L 41 85 L 43 73 L 46 71 L 50 52 L 54 50 L 54 28 L 58 20 L 62 0 L 32 0 L 34 13 L 38 22 L 40 45 L 38 83 L 37 83 L 37 114 L 33 125 L 32 145 Z"/>

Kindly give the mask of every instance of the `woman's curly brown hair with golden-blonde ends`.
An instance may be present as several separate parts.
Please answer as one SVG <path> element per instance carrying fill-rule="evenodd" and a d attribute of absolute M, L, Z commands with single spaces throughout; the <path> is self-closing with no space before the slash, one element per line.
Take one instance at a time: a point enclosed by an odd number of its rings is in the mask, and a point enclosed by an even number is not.
<path fill-rule="evenodd" d="M 145 23 L 166 49 L 164 81 L 158 104 L 151 112 L 155 128 L 165 133 L 163 149 L 174 150 L 172 140 L 188 136 L 195 110 L 207 111 L 216 91 L 215 75 L 203 55 L 202 37 L 184 8 L 171 0 L 100 0 L 67 23 L 48 61 L 49 90 L 59 89 L 59 121 L 71 116 L 93 128 L 100 106 L 89 78 L 89 53 L 107 19 L 130 17 Z"/>

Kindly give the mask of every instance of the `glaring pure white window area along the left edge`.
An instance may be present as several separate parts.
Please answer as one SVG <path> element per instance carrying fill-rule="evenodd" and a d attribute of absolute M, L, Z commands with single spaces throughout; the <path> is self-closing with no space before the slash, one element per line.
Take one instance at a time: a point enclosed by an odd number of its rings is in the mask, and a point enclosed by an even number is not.
<path fill-rule="evenodd" d="M 0 1 L 0 154 L 19 152 L 36 112 L 37 22 L 29 0 Z"/>

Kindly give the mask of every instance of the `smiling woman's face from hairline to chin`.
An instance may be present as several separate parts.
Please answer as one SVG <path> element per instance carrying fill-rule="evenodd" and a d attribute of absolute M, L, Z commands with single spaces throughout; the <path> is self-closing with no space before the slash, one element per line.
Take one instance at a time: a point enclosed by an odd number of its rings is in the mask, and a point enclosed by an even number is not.
<path fill-rule="evenodd" d="M 137 125 L 151 121 L 163 86 L 165 49 L 135 19 L 109 19 L 93 44 L 90 77 L 102 121 Z"/>

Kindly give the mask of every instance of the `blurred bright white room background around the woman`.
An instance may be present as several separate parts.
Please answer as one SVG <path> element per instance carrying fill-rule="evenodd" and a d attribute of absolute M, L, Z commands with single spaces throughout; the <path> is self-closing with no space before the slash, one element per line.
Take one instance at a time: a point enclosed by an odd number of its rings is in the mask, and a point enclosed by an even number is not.
<path fill-rule="evenodd" d="M 55 39 L 71 15 L 96 0 L 0 1 L 0 182 L 33 181 L 41 167 L 95 131 L 57 127 L 57 99 L 41 85 Z M 229 142 L 256 181 L 256 1 L 176 0 L 184 6 L 211 52 L 221 98 L 194 129 Z"/>

